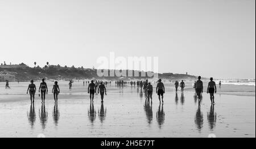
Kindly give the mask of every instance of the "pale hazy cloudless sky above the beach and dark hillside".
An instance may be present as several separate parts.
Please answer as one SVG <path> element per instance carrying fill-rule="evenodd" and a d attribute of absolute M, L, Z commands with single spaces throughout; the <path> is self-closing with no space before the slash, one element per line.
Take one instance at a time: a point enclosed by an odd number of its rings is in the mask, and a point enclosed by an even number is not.
<path fill-rule="evenodd" d="M 92 68 L 157 56 L 159 72 L 255 78 L 255 1 L 0 0 L 0 61 Z"/>

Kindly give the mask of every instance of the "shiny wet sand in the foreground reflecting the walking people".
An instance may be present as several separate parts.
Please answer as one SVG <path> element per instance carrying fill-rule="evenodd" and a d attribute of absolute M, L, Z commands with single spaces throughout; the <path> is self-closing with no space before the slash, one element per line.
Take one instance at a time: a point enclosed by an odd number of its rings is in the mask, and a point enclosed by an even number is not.
<path fill-rule="evenodd" d="M 255 137 L 255 96 L 216 95 L 211 105 L 207 93 L 199 104 L 191 91 L 168 91 L 159 104 L 155 92 L 148 103 L 137 87 L 112 83 L 104 104 L 100 95 L 90 104 L 87 87 L 74 84 L 60 88 L 57 105 L 37 93 L 33 106 L 22 90 L 1 89 L 0 137 Z"/>

